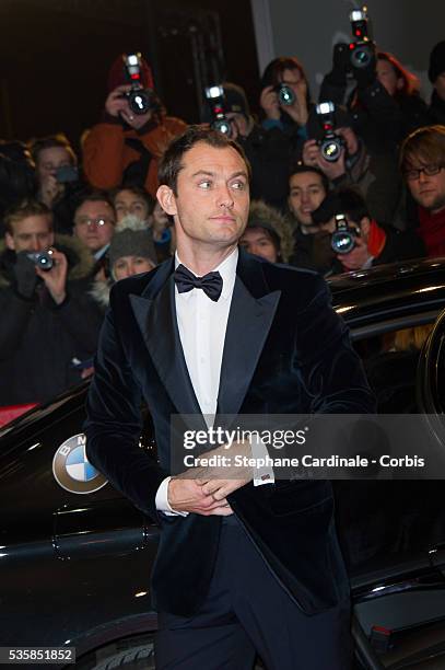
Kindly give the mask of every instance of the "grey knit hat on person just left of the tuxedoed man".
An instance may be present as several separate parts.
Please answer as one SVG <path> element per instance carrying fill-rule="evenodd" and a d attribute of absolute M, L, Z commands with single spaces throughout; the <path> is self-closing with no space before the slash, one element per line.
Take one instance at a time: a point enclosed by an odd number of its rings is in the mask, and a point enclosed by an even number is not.
<path fill-rule="evenodd" d="M 124 217 L 116 226 L 115 234 L 108 249 L 109 267 L 122 256 L 141 256 L 157 265 L 151 230 L 147 222 L 134 216 Z"/>

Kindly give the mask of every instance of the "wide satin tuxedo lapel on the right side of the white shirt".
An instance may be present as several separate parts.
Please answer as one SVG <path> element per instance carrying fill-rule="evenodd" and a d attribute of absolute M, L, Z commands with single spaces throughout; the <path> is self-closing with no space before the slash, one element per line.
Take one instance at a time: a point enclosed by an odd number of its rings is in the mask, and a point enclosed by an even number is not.
<path fill-rule="evenodd" d="M 261 264 L 239 253 L 221 366 L 218 414 L 236 415 L 269 334 L 281 291 L 269 291 Z"/>

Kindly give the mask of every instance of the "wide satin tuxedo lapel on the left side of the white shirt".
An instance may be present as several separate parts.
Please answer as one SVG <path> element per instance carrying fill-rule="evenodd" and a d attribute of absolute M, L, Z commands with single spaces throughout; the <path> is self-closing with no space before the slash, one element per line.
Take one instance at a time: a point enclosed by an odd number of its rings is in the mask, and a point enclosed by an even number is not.
<path fill-rule="evenodd" d="M 161 266 L 142 296 L 132 294 L 130 301 L 153 365 L 178 414 L 197 415 L 201 411 L 180 344 L 172 269 L 173 263 Z"/>

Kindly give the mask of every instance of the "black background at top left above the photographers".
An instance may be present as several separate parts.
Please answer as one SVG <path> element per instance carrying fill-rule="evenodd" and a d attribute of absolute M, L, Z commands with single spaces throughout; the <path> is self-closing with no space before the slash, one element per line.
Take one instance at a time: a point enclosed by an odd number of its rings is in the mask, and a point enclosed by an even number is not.
<path fill-rule="evenodd" d="M 200 120 L 202 77 L 241 82 L 257 99 L 249 0 L 2 0 L 0 25 L 3 139 L 65 131 L 77 145 L 101 117 L 110 65 L 134 50 L 168 113 L 187 122 Z"/>

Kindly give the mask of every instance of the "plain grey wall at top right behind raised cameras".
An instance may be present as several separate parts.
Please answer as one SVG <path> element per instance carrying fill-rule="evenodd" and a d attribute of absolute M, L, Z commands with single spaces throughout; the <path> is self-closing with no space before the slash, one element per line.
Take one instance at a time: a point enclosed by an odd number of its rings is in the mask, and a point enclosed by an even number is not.
<path fill-rule="evenodd" d="M 253 0 L 269 13 L 274 55 L 297 56 L 317 92 L 323 73 L 331 68 L 332 46 L 350 39 L 351 9 L 366 4 L 374 38 L 383 50 L 394 53 L 422 80 L 426 79 L 431 48 L 445 39 L 444 0 Z M 265 4 L 266 2 L 266 4 Z"/>

